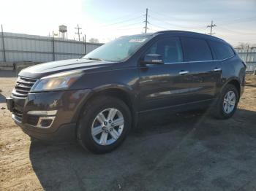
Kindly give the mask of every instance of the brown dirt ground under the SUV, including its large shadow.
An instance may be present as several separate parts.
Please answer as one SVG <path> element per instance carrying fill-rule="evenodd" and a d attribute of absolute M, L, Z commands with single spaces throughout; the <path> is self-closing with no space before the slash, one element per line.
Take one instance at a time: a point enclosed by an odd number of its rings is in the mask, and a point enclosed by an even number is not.
<path fill-rule="evenodd" d="M 256 190 L 256 76 L 231 119 L 148 117 L 107 155 L 31 141 L 4 109 L 14 84 L 0 77 L 0 190 Z"/>

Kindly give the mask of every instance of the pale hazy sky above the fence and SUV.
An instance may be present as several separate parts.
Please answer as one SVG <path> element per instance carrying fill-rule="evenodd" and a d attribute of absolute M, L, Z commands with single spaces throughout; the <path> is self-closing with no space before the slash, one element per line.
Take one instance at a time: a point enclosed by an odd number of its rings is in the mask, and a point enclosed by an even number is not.
<path fill-rule="evenodd" d="M 256 0 L 0 0 L 0 24 L 5 32 L 48 36 L 67 26 L 69 39 L 81 36 L 109 42 L 119 36 L 163 30 L 208 34 L 234 46 L 256 44 Z"/>

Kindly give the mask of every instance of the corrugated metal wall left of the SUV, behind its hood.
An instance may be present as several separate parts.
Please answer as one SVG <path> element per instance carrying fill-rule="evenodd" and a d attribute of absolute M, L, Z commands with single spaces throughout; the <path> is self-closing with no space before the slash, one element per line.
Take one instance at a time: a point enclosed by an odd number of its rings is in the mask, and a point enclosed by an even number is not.
<path fill-rule="evenodd" d="M 101 45 L 86 42 L 86 53 Z M 7 62 L 47 62 L 80 58 L 85 55 L 85 44 L 84 42 L 59 38 L 53 40 L 52 37 L 47 36 L 4 33 L 4 48 L 2 36 L 0 36 L 0 62 L 4 62 L 4 50 Z"/>

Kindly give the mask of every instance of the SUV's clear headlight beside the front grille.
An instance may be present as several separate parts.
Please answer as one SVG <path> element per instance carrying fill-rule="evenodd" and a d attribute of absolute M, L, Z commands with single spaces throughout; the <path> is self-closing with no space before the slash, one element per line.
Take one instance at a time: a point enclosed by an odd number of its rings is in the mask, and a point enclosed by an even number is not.
<path fill-rule="evenodd" d="M 82 74 L 82 71 L 67 71 L 42 77 L 33 85 L 31 92 L 67 89 Z"/>

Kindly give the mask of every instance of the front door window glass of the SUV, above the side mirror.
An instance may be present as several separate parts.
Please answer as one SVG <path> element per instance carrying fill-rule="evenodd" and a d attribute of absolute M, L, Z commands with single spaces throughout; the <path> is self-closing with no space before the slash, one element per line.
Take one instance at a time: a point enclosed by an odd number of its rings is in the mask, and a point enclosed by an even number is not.
<path fill-rule="evenodd" d="M 156 42 L 146 54 L 162 55 L 164 63 L 182 62 L 181 42 L 178 38 L 162 39 Z"/>

